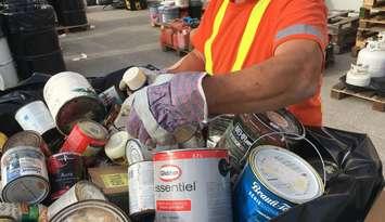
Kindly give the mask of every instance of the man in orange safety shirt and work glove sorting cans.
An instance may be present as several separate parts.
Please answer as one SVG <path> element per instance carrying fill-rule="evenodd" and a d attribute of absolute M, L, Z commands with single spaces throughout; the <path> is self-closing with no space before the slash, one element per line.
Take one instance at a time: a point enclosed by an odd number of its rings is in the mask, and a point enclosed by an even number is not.
<path fill-rule="evenodd" d="M 323 0 L 211 0 L 194 51 L 167 71 L 180 75 L 133 95 L 127 129 L 166 144 L 208 115 L 282 107 L 320 126 L 326 39 Z"/>

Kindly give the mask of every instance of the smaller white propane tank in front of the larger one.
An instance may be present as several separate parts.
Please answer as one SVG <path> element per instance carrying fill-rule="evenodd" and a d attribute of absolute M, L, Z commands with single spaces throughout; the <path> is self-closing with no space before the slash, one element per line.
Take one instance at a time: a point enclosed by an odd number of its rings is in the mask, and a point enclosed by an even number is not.
<path fill-rule="evenodd" d="M 371 75 L 369 66 L 362 64 L 351 64 L 350 70 L 346 75 L 346 83 L 356 87 L 369 87 Z"/>

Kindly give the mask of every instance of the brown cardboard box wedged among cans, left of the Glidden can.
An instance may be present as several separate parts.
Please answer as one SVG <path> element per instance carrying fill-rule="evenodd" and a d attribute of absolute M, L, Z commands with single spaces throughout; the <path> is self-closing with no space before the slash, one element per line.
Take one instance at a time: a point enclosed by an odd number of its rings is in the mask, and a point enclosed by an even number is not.
<path fill-rule="evenodd" d="M 127 167 L 89 168 L 90 181 L 99 186 L 110 201 L 117 205 L 127 214 L 128 173 Z"/>

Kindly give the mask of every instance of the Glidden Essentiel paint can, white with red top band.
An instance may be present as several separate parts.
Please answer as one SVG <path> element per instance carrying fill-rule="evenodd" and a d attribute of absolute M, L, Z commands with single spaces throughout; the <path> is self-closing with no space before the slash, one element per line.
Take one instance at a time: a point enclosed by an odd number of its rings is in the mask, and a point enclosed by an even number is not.
<path fill-rule="evenodd" d="M 228 162 L 226 149 L 156 153 L 156 221 L 232 222 Z"/>

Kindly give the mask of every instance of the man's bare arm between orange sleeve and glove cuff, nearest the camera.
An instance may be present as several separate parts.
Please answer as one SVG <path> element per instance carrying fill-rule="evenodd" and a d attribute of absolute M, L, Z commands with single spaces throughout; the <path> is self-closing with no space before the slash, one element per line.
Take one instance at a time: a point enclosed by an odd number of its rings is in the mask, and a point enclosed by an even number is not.
<path fill-rule="evenodd" d="M 205 78 L 208 113 L 260 113 L 301 102 L 317 93 L 322 63 L 323 53 L 315 41 L 287 41 L 259 65 Z"/>

